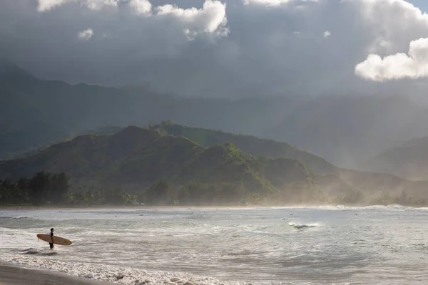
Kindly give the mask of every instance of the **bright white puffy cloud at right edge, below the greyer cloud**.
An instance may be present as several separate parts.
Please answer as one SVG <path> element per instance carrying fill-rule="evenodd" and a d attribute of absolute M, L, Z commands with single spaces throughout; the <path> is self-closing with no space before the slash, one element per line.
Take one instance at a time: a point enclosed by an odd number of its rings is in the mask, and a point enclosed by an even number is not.
<path fill-rule="evenodd" d="M 428 38 L 410 42 L 409 54 L 396 53 L 381 58 L 370 54 L 357 64 L 355 74 L 371 81 L 428 77 Z"/>

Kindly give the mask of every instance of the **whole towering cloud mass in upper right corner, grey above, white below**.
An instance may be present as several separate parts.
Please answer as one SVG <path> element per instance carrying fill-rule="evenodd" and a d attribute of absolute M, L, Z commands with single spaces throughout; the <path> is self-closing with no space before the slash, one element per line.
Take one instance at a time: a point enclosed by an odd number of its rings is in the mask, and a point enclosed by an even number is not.
<path fill-rule="evenodd" d="M 424 39 L 428 14 L 404 0 L 342 1 L 357 6 L 367 31 L 373 35 L 367 44 L 367 59 L 355 67 L 357 76 L 380 82 L 428 77 L 428 45 Z M 402 52 L 407 50 L 407 54 Z"/>

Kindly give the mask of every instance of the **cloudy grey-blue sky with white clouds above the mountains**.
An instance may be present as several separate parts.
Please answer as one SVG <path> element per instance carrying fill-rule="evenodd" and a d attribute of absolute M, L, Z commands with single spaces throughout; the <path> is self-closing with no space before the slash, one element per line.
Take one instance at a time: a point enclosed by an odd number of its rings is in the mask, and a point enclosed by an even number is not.
<path fill-rule="evenodd" d="M 0 57 L 181 95 L 408 90 L 428 77 L 427 2 L 1 0 Z"/>

